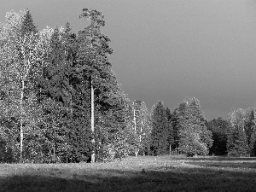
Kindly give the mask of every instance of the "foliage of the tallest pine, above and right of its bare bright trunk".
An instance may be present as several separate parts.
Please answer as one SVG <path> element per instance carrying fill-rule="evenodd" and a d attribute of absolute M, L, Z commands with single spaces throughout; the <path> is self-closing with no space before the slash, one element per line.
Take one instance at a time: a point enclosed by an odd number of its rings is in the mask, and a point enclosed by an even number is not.
<path fill-rule="evenodd" d="M 83 9 L 80 18 L 90 20 L 90 25 L 79 31 L 74 69 L 78 84 L 84 82 L 80 87 L 84 95 L 90 94 L 88 85 L 84 86 L 88 84 L 89 77 L 95 88 L 95 127 L 99 135 L 92 137 L 96 137 L 96 148 L 102 154 L 100 148 L 112 148 L 111 143 L 120 141 L 120 134 L 125 129 L 126 98 L 108 61 L 113 49 L 109 46 L 110 38 L 101 32 L 101 27 L 105 26 L 102 13 L 95 9 Z M 118 154 L 117 151 L 115 153 Z"/>

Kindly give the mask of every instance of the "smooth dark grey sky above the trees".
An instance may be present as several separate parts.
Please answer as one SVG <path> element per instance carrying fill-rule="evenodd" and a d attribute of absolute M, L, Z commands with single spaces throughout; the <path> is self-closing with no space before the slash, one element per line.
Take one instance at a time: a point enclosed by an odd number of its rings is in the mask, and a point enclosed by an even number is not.
<path fill-rule="evenodd" d="M 208 120 L 255 106 L 255 0 L 9 0 L 0 22 L 30 9 L 40 30 L 69 20 L 78 32 L 88 25 L 83 8 L 105 15 L 113 71 L 131 100 L 173 109 L 195 96 Z"/>

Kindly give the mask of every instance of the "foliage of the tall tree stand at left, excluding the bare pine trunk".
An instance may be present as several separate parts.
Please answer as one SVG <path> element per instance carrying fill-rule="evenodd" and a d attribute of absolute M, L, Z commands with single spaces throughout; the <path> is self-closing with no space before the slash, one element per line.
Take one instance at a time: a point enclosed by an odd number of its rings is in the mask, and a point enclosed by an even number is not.
<path fill-rule="evenodd" d="M 12 158 L 20 143 L 20 154 L 33 162 L 88 160 L 91 137 L 96 137 L 99 160 L 101 150 L 118 141 L 116 154 L 128 149 L 127 137 L 120 136 L 128 124 L 128 99 L 108 61 L 113 49 L 100 29 L 104 17 L 83 9 L 80 18 L 91 23 L 78 37 L 68 22 L 65 28 L 38 32 L 29 10 L 9 12 L 1 25 L 0 131 Z M 90 77 L 96 92 L 96 136 L 90 132 Z M 10 139 L 11 134 L 17 139 Z"/>

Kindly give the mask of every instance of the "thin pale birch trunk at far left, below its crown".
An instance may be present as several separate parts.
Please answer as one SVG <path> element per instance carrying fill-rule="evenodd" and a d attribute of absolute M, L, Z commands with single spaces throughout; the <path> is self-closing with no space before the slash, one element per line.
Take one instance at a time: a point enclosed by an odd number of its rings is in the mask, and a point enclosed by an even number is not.
<path fill-rule="evenodd" d="M 23 116 L 24 116 L 24 108 L 23 108 L 23 99 L 24 99 L 24 90 L 25 90 L 25 81 L 22 80 L 21 81 L 21 93 L 20 93 L 20 112 L 21 112 L 21 116 L 20 116 L 20 163 L 22 163 L 23 161 L 23 137 L 24 137 L 24 133 L 23 133 Z"/>

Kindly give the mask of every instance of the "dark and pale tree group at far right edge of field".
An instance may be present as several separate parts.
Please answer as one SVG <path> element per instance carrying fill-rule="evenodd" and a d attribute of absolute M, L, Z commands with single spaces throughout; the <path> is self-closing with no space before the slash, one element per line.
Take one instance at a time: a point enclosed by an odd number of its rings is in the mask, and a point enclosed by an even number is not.
<path fill-rule="evenodd" d="M 207 122 L 212 131 L 210 154 L 229 156 L 256 156 L 255 108 L 233 109 L 228 119 Z"/>

